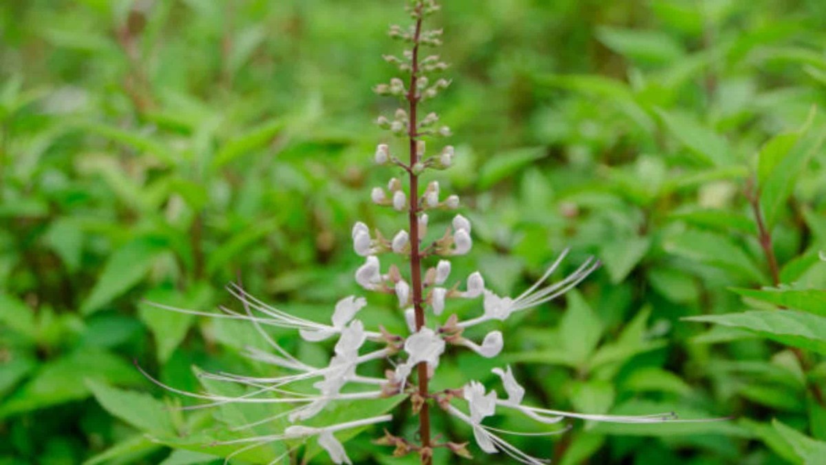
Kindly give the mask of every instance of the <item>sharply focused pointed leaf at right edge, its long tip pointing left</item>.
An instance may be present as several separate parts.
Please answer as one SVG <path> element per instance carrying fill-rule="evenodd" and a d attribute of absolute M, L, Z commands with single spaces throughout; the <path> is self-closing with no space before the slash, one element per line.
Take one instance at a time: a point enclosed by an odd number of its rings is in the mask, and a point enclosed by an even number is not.
<path fill-rule="evenodd" d="M 826 318 L 814 314 L 796 310 L 762 310 L 693 316 L 685 320 L 748 329 L 778 343 L 826 354 Z"/>

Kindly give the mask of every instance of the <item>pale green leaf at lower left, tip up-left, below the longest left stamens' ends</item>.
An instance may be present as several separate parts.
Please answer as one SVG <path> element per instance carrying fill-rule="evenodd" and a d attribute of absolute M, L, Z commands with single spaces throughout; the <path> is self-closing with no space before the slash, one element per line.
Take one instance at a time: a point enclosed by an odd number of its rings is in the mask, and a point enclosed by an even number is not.
<path fill-rule="evenodd" d="M 174 434 L 169 408 L 143 392 L 126 391 L 98 381 L 87 381 L 97 402 L 110 414 L 151 434 Z"/>

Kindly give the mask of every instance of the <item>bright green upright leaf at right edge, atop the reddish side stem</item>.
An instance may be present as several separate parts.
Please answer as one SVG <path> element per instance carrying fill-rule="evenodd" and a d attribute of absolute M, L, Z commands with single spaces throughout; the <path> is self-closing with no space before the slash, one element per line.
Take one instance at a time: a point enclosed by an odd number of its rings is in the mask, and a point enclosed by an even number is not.
<path fill-rule="evenodd" d="M 815 120 L 817 122 L 814 122 Z M 769 148 L 775 147 L 772 150 L 776 153 L 766 155 L 770 160 L 766 164 L 771 166 L 763 170 L 766 171 L 766 177 L 760 184 L 760 206 L 769 228 L 775 223 L 781 206 L 795 189 L 797 177 L 809 164 L 809 160 L 819 150 L 826 137 L 822 118 L 816 117 L 814 108 L 798 134 L 799 137 L 778 136 L 784 137 L 784 141 L 770 144 Z M 792 141 L 795 142 L 793 146 Z M 762 157 L 761 152 L 761 160 Z"/>

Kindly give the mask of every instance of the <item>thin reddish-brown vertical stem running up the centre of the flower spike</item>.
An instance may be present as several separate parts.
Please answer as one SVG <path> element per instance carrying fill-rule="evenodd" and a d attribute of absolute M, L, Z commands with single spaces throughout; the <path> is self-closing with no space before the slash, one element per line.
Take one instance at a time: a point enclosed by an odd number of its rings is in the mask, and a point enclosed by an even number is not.
<path fill-rule="evenodd" d="M 411 185 L 411 206 L 408 212 L 408 219 L 410 223 L 411 234 L 411 283 L 413 286 L 413 308 L 415 309 L 415 328 L 416 331 L 425 326 L 425 309 L 422 305 L 422 286 L 421 286 L 421 256 L 419 252 L 419 176 L 415 174 L 413 166 L 419 162 L 419 154 L 416 147 L 416 132 L 418 132 L 418 119 L 416 117 L 416 109 L 419 103 L 419 97 L 416 95 L 416 81 L 419 74 L 419 37 L 421 34 L 421 5 L 416 6 L 415 35 L 413 36 L 413 55 L 411 57 L 411 81 L 410 88 L 407 90 L 407 103 L 409 105 L 409 122 L 407 127 L 407 137 L 410 140 L 411 164 L 410 170 L 410 185 Z M 427 364 L 420 363 L 416 367 L 417 377 L 419 381 L 419 395 L 425 402 L 419 411 L 419 437 L 421 440 L 421 447 L 430 449 L 430 405 L 427 402 L 430 391 L 427 387 Z M 430 453 L 423 451 L 421 455 L 421 463 L 430 465 L 432 462 Z"/>

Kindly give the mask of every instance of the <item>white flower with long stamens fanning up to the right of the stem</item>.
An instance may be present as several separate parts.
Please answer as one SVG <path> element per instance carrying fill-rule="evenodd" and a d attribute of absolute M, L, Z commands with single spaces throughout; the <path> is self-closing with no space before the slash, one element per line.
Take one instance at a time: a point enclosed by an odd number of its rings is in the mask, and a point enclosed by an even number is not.
<path fill-rule="evenodd" d="M 489 290 L 485 290 L 485 299 L 483 301 L 485 313 L 481 317 L 459 322 L 458 327 L 469 328 L 474 324 L 480 324 L 491 319 L 504 321 L 515 312 L 525 309 L 532 309 L 538 305 L 545 304 L 550 300 L 556 299 L 558 296 L 565 294 L 568 290 L 571 290 L 574 286 L 579 284 L 580 281 L 584 280 L 586 276 L 590 275 L 592 271 L 596 270 L 600 266 L 599 261 L 595 260 L 593 257 L 588 258 L 588 260 L 577 268 L 577 271 L 574 271 L 570 275 L 566 276 L 563 280 L 540 288 L 542 283 L 548 279 L 548 276 L 550 276 L 553 271 L 557 270 L 559 264 L 562 263 L 566 255 L 567 249 L 559 255 L 557 261 L 553 262 L 553 265 L 548 268 L 548 271 L 545 271 L 544 275 L 539 278 L 534 285 L 530 286 L 528 290 L 525 290 L 525 292 L 520 294 L 515 299 L 510 297 L 500 297 Z"/>

